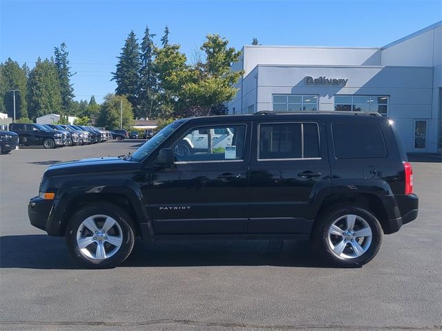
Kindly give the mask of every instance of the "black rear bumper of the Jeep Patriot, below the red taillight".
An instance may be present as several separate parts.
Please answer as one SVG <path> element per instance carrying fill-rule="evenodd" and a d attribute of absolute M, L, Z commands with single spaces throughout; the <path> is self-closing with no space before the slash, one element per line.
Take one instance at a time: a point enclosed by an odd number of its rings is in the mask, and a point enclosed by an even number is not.
<path fill-rule="evenodd" d="M 385 234 L 398 232 L 402 225 L 410 223 L 417 218 L 419 210 L 419 197 L 416 194 L 396 195 L 395 214 L 398 217 L 388 219 L 383 223 Z"/>

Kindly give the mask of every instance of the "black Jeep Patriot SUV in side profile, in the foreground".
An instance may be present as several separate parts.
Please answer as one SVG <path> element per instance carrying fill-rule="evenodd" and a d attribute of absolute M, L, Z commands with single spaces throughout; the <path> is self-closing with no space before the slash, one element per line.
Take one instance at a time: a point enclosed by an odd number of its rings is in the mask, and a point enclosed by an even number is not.
<path fill-rule="evenodd" d="M 180 119 L 125 157 L 51 165 L 39 192 L 30 223 L 93 268 L 124 261 L 135 236 L 309 237 L 363 265 L 419 201 L 393 121 L 361 112 Z"/>

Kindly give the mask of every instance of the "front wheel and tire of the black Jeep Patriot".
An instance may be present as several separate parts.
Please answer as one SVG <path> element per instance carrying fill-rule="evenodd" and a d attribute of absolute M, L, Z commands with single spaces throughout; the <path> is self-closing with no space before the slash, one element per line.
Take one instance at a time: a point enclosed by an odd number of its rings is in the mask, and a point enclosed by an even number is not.
<path fill-rule="evenodd" d="M 75 261 L 94 269 L 115 268 L 131 254 L 135 242 L 131 217 L 112 203 L 81 208 L 71 217 L 65 235 Z"/>

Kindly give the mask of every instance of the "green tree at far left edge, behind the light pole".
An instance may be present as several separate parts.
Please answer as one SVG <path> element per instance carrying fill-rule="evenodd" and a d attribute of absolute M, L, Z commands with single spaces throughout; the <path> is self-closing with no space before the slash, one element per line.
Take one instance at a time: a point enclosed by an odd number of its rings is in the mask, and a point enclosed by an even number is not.
<path fill-rule="evenodd" d="M 26 102 L 26 86 L 28 77 L 26 70 L 20 68 L 17 61 L 8 58 L 5 63 L 0 63 L 0 112 L 6 112 L 8 117 L 14 116 L 15 91 L 15 118 L 28 117 L 28 104 Z"/>

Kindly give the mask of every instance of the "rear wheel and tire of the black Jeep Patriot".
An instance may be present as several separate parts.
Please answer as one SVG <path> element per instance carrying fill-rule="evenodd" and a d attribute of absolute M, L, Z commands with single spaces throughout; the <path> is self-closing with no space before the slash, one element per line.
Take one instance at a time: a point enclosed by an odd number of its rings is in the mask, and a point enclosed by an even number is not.
<path fill-rule="evenodd" d="M 376 217 L 369 210 L 356 206 L 325 212 L 312 233 L 318 253 L 341 267 L 356 267 L 371 261 L 381 248 L 382 236 L 383 230 Z"/>

